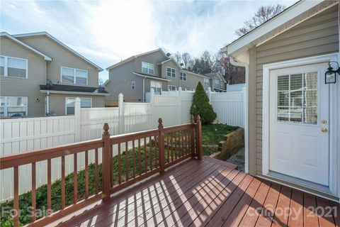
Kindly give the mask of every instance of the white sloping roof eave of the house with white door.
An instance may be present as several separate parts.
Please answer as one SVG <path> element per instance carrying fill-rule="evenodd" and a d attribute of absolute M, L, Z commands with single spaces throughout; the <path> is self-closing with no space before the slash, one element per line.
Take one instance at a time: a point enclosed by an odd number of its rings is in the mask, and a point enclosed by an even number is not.
<path fill-rule="evenodd" d="M 288 7 L 288 9 L 266 21 L 266 23 L 261 24 L 261 26 L 254 28 L 254 30 L 229 43 L 225 48 L 222 48 L 222 51 L 233 57 L 242 55 L 249 48 L 266 43 L 268 40 L 280 35 L 280 33 L 297 26 L 297 24 L 336 4 L 339 4 L 339 1 L 298 1 L 293 6 Z"/>

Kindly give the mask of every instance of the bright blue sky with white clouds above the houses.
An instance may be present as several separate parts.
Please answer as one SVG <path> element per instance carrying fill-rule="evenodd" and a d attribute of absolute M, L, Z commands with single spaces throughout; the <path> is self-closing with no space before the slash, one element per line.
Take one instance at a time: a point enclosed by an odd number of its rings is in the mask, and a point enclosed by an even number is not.
<path fill-rule="evenodd" d="M 0 31 L 47 31 L 103 69 L 132 55 L 217 52 L 259 6 L 296 1 L 0 1 Z M 108 72 L 99 73 L 104 81 Z"/>

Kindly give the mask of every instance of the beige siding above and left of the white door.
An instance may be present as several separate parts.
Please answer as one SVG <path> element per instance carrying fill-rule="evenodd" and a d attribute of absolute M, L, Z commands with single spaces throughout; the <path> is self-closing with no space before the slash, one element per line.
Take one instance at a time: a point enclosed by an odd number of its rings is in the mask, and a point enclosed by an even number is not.
<path fill-rule="evenodd" d="M 249 151 L 256 151 L 256 155 L 251 155 L 256 158 L 256 166 L 253 162 L 250 166 L 250 169 L 256 170 L 256 174 L 261 175 L 262 172 L 263 65 L 339 52 L 338 23 L 338 6 L 333 6 L 260 45 L 256 52 L 250 50 L 251 61 L 256 60 L 256 65 L 251 63 L 249 66 L 249 117 L 255 116 L 249 119 Z M 255 105 L 251 105 L 253 101 Z"/>

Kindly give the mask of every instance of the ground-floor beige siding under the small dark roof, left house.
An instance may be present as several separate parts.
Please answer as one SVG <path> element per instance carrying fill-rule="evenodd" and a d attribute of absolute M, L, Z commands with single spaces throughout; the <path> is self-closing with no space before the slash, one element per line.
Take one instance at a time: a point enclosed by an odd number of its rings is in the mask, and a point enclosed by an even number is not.
<path fill-rule="evenodd" d="M 66 97 L 69 98 L 91 98 L 92 107 L 104 107 L 105 98 L 104 96 L 91 96 L 82 94 L 50 94 L 50 113 L 56 114 L 57 116 L 65 115 L 65 101 Z"/>

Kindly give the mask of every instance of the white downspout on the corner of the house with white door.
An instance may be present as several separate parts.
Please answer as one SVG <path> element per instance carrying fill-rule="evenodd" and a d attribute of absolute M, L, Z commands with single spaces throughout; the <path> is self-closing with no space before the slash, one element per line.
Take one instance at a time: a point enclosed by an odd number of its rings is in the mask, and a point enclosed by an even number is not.
<path fill-rule="evenodd" d="M 245 80 L 246 80 L 246 90 L 245 90 L 245 104 L 244 104 L 244 171 L 249 173 L 249 64 L 244 62 L 237 62 L 233 57 L 229 57 L 230 63 L 235 66 L 244 67 L 246 69 L 245 72 Z"/>

